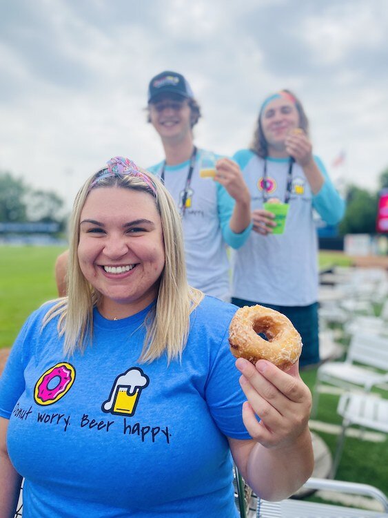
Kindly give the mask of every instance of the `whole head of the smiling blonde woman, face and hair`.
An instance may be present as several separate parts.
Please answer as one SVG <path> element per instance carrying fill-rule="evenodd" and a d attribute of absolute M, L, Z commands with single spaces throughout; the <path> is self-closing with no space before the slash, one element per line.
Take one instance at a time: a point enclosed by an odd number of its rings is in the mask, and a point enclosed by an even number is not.
<path fill-rule="evenodd" d="M 92 307 L 108 319 L 125 318 L 144 309 L 157 294 L 167 297 L 165 291 L 170 293 L 173 285 L 170 308 L 156 304 L 144 350 L 152 341 L 152 352 L 145 358 L 160 356 L 166 347 L 168 358 L 176 357 L 187 334 L 190 307 L 203 295 L 187 289 L 181 222 L 161 182 L 128 159 L 110 160 L 108 169 L 97 172 L 79 191 L 72 229 L 68 305 L 59 303 L 48 313 L 49 319 L 57 311 L 66 316 L 65 351 L 72 352 L 79 336 L 85 347 Z M 117 267 L 123 266 L 129 270 L 117 274 Z M 116 273 L 104 267 L 115 267 Z M 166 311 L 174 314 L 174 326 L 167 328 L 161 324 L 169 319 Z"/>

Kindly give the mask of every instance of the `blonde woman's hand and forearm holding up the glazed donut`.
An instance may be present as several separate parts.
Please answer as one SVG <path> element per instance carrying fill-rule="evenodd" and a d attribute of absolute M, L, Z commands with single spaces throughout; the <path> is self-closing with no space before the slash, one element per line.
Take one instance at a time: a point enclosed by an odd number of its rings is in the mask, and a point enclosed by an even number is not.
<path fill-rule="evenodd" d="M 243 405 L 243 421 L 252 439 L 229 439 L 234 460 L 256 495 L 283 500 L 314 469 L 308 426 L 312 396 L 299 376 L 297 363 L 283 372 L 265 360 L 252 365 L 238 358 L 236 367 L 248 400 Z"/>

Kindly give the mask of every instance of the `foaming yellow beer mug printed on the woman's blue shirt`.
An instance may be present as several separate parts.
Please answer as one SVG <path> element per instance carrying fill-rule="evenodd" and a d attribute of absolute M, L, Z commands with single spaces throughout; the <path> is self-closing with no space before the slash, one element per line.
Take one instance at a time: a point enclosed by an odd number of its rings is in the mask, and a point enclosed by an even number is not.
<path fill-rule="evenodd" d="M 133 416 L 139 403 L 141 392 L 150 383 L 150 378 L 139 369 L 132 367 L 114 380 L 110 396 L 101 405 L 103 412 L 123 416 Z"/>

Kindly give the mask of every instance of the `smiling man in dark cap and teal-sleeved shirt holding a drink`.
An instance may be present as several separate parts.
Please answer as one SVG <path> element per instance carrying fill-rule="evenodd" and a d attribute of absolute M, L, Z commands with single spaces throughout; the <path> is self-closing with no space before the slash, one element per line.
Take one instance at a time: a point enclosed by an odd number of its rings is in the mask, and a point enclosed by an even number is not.
<path fill-rule="evenodd" d="M 165 182 L 181 211 L 187 278 L 207 295 L 230 300 L 227 245 L 241 247 L 251 229 L 250 196 L 240 168 L 215 155 L 214 178 L 202 178 L 193 128 L 201 109 L 183 75 L 165 71 L 148 87 L 148 122 L 161 137 L 165 159 L 149 169 Z"/>

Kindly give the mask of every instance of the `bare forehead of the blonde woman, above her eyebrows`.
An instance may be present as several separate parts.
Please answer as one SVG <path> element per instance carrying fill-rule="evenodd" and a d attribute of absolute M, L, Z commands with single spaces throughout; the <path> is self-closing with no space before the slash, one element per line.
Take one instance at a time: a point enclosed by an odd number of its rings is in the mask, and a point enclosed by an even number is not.
<path fill-rule="evenodd" d="M 82 218 L 159 218 L 154 197 L 145 191 L 125 187 L 96 187 L 90 191 L 81 211 Z"/>

